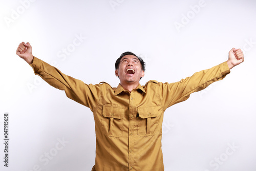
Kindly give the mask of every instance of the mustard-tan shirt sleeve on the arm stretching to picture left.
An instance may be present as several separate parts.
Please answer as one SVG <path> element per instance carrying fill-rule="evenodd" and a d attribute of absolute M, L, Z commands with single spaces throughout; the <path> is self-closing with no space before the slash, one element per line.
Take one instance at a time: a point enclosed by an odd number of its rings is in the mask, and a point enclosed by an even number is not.
<path fill-rule="evenodd" d="M 85 84 L 79 79 L 61 73 L 57 68 L 36 57 L 30 66 L 36 75 L 39 75 L 54 88 L 64 90 L 70 99 L 87 106 L 92 111 L 96 108 L 100 98 L 101 84 Z"/>

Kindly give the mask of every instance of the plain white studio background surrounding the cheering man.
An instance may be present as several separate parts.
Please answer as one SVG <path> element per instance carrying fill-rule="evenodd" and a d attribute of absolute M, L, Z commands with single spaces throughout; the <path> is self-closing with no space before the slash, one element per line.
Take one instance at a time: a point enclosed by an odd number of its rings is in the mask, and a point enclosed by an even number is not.
<path fill-rule="evenodd" d="M 34 56 L 63 73 L 113 87 L 119 83 L 114 63 L 125 51 L 146 61 L 143 85 L 179 81 L 226 61 L 233 47 L 243 49 L 245 61 L 224 80 L 166 110 L 162 150 L 167 171 L 255 171 L 255 7 L 252 0 L 1 0 L 1 170 L 91 170 L 95 163 L 93 114 L 15 54 L 29 41 Z"/>

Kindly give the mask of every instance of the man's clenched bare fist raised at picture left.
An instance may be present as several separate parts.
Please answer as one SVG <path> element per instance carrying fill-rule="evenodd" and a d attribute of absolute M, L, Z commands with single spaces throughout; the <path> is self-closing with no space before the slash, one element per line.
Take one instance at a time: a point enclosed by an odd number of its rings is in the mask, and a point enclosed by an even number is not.
<path fill-rule="evenodd" d="M 31 64 L 33 62 L 34 56 L 32 55 L 32 47 L 29 42 L 27 42 L 26 44 L 25 42 L 19 44 L 16 50 L 16 54 L 19 57 L 23 58 L 28 64 Z"/>

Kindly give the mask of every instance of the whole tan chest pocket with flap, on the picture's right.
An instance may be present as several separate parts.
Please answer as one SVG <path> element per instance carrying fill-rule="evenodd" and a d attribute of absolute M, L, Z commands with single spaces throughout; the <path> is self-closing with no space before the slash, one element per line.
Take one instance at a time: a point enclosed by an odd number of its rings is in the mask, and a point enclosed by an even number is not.
<path fill-rule="evenodd" d="M 151 136 L 158 133 L 160 114 L 157 106 L 138 108 L 138 135 Z"/>

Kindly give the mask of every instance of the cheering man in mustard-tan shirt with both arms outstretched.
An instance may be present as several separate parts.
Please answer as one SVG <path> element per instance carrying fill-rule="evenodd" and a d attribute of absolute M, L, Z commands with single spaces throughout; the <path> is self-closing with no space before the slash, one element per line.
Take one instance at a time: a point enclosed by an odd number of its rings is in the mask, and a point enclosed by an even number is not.
<path fill-rule="evenodd" d="M 144 62 L 131 52 L 116 61 L 117 88 L 108 83 L 84 84 L 34 57 L 27 42 L 19 44 L 16 54 L 51 86 L 81 103 L 94 114 L 96 159 L 92 170 L 162 171 L 161 149 L 164 111 L 188 99 L 210 83 L 223 79 L 234 66 L 244 61 L 241 49 L 232 49 L 228 60 L 216 67 L 195 73 L 175 83 L 148 81 L 141 86 Z"/>

